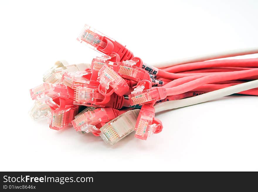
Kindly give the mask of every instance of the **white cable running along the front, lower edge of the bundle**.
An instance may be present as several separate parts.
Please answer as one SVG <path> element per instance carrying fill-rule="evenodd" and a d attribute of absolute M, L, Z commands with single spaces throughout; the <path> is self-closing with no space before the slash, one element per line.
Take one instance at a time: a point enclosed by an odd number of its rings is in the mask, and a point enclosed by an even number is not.
<path fill-rule="evenodd" d="M 198 95 L 198 96 L 194 96 L 194 97 L 190 97 L 190 98 L 185 98 L 185 99 L 180 99 L 180 100 L 175 100 L 175 101 L 166 101 L 164 103 L 158 103 L 158 104 L 154 105 L 155 113 L 164 111 L 164 110 L 176 109 L 176 108 L 180 108 L 180 107 L 186 107 L 189 105 L 203 103 L 206 101 L 211 101 L 214 99 L 218 99 L 218 98 L 221 98 L 224 96 L 239 93 L 241 91 L 254 89 L 257 87 L 258 87 L 258 80 L 254 80 L 254 81 L 249 81 L 246 83 L 233 85 L 231 87 L 218 89 L 215 91 L 211 91 L 211 92 L 208 92 L 208 93 L 205 93 L 202 95 Z"/>

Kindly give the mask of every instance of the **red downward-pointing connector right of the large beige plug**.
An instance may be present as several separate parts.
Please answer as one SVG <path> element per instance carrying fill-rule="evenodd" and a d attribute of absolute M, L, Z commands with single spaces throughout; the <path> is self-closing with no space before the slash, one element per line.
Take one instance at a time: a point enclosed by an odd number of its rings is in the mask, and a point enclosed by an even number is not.
<path fill-rule="evenodd" d="M 145 106 L 144 106 L 145 107 Z M 146 140 L 147 137 L 152 135 L 160 125 L 152 124 L 152 121 L 155 117 L 155 110 L 154 108 L 142 108 L 140 110 L 137 123 L 135 125 L 135 137 L 139 139 Z"/>

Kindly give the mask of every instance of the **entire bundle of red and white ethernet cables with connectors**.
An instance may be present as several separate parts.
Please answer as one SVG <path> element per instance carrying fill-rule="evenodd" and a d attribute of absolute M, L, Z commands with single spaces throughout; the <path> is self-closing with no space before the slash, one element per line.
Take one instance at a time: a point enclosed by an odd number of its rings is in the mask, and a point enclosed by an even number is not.
<path fill-rule="evenodd" d="M 162 131 L 162 122 L 155 118 L 160 108 L 233 93 L 258 95 L 257 80 L 250 81 L 258 79 L 257 58 L 211 60 L 258 53 L 258 48 L 151 66 L 88 25 L 77 40 L 104 56 L 94 58 L 91 65 L 58 61 L 45 73 L 44 83 L 30 89 L 35 100 L 30 115 L 50 117 L 51 129 L 73 125 L 77 132 L 91 132 L 110 144 L 135 130 L 135 137 L 146 140 Z"/>

